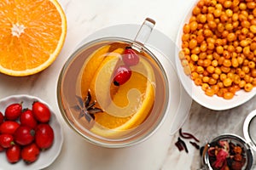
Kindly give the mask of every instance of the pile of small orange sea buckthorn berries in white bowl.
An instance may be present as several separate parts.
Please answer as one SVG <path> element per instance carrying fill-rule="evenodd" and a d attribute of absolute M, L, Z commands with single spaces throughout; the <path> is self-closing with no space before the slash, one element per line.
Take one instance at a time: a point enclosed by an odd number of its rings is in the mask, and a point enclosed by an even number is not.
<path fill-rule="evenodd" d="M 208 96 L 232 99 L 256 86 L 256 3 L 200 0 L 183 26 L 184 72 Z"/>

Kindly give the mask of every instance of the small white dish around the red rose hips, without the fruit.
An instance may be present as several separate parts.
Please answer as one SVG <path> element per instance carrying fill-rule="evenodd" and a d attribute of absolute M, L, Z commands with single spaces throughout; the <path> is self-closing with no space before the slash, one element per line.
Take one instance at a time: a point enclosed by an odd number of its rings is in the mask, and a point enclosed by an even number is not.
<path fill-rule="evenodd" d="M 0 99 L 0 111 L 3 112 L 5 108 L 13 103 L 22 103 L 23 108 L 32 108 L 33 101 L 40 101 L 42 103 L 46 104 L 42 99 L 38 99 L 37 97 L 30 96 L 30 95 L 13 95 L 9 96 L 4 99 Z M 0 152 L 0 169 L 12 169 L 12 170 L 20 170 L 20 169 L 26 169 L 26 170 L 35 170 L 35 169 L 42 169 L 45 167 L 48 167 L 59 154 L 61 153 L 61 147 L 63 144 L 63 132 L 61 128 L 61 124 L 58 121 L 57 117 L 55 116 L 55 113 L 51 109 L 51 107 L 48 105 L 49 110 L 51 112 L 51 118 L 49 121 L 49 125 L 53 128 L 55 133 L 55 139 L 54 144 L 48 149 L 40 152 L 40 156 L 38 157 L 37 161 L 32 162 L 31 164 L 26 164 L 24 161 L 20 160 L 15 164 L 9 163 L 7 161 L 5 152 Z"/>

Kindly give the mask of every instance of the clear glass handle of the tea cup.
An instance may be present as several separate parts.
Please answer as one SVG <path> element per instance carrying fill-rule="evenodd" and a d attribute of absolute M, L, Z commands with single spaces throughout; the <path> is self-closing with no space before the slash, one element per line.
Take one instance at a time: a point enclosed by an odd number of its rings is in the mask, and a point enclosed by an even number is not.
<path fill-rule="evenodd" d="M 139 31 L 137 32 L 134 42 L 132 42 L 131 44 L 131 48 L 134 48 L 137 51 L 141 52 L 143 50 L 143 45 L 148 41 L 148 37 L 153 31 L 154 25 L 155 25 L 154 20 L 150 18 L 146 18 L 143 22 L 143 25 L 140 27 Z"/>

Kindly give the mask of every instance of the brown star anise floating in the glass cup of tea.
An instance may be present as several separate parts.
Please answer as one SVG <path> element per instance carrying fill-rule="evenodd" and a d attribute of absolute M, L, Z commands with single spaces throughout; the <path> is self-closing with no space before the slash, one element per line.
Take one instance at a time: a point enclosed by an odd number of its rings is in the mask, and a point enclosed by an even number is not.
<path fill-rule="evenodd" d="M 94 114 L 102 112 L 102 109 L 94 107 L 94 105 L 96 105 L 96 100 L 91 102 L 90 90 L 84 100 L 79 96 L 76 96 L 76 99 L 78 100 L 79 105 L 75 105 L 73 108 L 79 111 L 79 119 L 84 116 L 88 122 L 91 122 L 91 120 L 95 119 Z"/>

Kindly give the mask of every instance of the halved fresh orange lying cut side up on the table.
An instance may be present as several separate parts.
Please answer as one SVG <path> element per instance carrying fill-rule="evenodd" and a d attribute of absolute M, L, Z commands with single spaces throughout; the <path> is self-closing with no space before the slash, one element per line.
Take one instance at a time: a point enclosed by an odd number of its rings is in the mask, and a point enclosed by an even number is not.
<path fill-rule="evenodd" d="M 67 20 L 56 0 L 0 3 L 0 72 L 22 77 L 43 71 L 60 53 Z"/>

